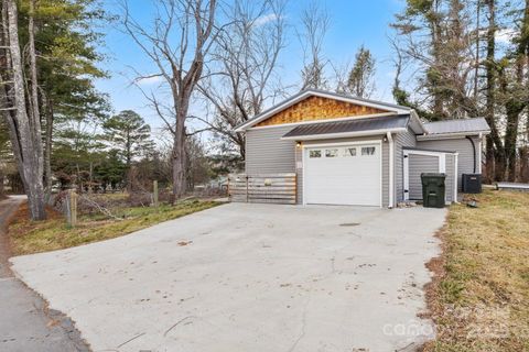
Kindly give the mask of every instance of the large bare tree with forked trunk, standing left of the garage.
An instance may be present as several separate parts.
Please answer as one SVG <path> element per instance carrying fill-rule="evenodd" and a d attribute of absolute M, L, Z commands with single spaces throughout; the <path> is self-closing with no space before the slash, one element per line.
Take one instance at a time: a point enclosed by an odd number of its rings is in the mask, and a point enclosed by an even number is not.
<path fill-rule="evenodd" d="M 171 105 L 158 95 L 145 95 L 173 136 L 173 195 L 185 191 L 185 122 L 192 95 L 203 76 L 204 62 L 216 36 L 216 0 L 156 0 L 151 28 L 136 21 L 127 0 L 123 4 L 123 26 L 133 42 L 156 67 L 156 73 L 139 76 L 160 77 L 170 88 Z"/>

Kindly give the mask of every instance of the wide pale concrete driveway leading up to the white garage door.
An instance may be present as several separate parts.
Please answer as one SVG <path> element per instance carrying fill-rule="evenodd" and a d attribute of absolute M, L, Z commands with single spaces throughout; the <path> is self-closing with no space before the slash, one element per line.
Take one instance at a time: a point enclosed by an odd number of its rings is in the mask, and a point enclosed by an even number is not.
<path fill-rule="evenodd" d="M 230 204 L 12 262 L 94 351 L 411 351 L 444 217 Z"/>

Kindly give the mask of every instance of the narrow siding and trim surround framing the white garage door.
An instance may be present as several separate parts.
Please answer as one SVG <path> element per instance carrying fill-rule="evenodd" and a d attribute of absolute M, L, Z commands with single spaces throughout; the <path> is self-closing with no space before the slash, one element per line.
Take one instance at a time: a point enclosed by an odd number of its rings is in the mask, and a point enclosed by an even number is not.
<path fill-rule="evenodd" d="M 382 135 L 365 136 L 355 139 L 333 139 L 333 140 L 315 140 L 305 141 L 303 145 L 314 144 L 332 144 L 346 142 L 361 142 L 361 141 L 381 141 Z M 295 147 L 296 174 L 298 174 L 298 204 L 303 204 L 303 164 L 302 164 L 303 147 Z M 382 142 L 382 207 L 389 205 L 389 146 L 388 143 Z"/>

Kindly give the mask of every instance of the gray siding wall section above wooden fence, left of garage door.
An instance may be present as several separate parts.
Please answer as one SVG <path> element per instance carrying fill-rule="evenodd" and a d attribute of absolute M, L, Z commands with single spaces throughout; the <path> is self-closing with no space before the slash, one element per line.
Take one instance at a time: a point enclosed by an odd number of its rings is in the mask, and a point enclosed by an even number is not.
<path fill-rule="evenodd" d="M 246 173 L 282 174 L 295 172 L 295 142 L 281 138 L 292 125 L 262 128 L 246 132 Z"/>

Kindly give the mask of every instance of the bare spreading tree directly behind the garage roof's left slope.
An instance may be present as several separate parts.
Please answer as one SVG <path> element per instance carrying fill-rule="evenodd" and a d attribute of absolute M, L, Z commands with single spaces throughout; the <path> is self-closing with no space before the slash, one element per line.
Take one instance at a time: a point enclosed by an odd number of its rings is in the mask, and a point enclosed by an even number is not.
<path fill-rule="evenodd" d="M 283 94 L 276 69 L 284 47 L 284 1 L 235 0 L 229 23 L 217 36 L 212 74 L 199 84 L 214 118 L 195 119 L 235 144 L 244 158 L 245 134 L 235 132 L 235 127 Z"/>

